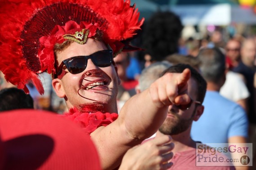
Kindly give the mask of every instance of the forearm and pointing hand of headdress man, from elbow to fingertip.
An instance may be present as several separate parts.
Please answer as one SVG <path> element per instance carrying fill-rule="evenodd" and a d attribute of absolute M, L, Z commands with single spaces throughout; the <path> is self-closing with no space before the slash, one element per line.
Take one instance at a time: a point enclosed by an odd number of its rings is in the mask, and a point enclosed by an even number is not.
<path fill-rule="evenodd" d="M 165 74 L 149 89 L 128 100 L 120 112 L 119 120 L 124 123 L 129 136 L 134 140 L 152 136 L 165 120 L 169 105 L 190 102 L 187 95 L 189 78 L 189 69 L 181 74 Z"/>

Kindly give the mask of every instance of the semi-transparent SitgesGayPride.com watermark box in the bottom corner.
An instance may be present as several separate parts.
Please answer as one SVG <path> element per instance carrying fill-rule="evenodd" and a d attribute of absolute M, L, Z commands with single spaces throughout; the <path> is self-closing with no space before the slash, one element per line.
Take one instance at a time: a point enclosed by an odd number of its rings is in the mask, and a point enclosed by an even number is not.
<path fill-rule="evenodd" d="M 252 143 L 197 143 L 196 166 L 252 166 Z"/>

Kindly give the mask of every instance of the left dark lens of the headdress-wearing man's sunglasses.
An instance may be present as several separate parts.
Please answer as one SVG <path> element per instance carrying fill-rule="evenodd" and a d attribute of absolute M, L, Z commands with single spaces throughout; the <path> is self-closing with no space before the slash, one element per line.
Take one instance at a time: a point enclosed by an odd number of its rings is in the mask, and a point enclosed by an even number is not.
<path fill-rule="evenodd" d="M 68 61 L 68 70 L 71 74 L 83 72 L 87 65 L 87 60 L 84 57 L 76 57 Z"/>

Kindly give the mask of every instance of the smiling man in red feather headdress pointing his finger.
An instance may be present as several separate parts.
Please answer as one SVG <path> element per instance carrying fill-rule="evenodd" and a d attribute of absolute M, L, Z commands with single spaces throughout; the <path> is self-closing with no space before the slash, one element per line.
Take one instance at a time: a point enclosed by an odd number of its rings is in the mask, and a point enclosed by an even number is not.
<path fill-rule="evenodd" d="M 90 134 L 102 169 L 119 166 L 128 149 L 154 134 L 169 105 L 190 102 L 185 69 L 159 78 L 116 114 L 120 80 L 113 57 L 139 49 L 129 41 L 144 21 L 129 0 L 5 0 L 0 8 L 5 78 L 26 93 L 33 82 L 43 93 L 37 74 L 52 74 L 53 88 L 70 109 L 64 116 Z M 162 158 L 161 168 L 170 167 L 171 155 Z"/>

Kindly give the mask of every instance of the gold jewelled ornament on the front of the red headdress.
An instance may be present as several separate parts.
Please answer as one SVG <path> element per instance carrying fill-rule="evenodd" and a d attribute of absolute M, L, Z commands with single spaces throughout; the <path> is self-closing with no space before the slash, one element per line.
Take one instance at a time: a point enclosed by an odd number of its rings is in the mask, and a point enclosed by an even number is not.
<path fill-rule="evenodd" d="M 62 37 L 64 39 L 71 39 L 79 44 L 85 44 L 88 38 L 90 30 L 83 29 L 81 31 L 76 31 L 75 34 L 64 34 Z"/>

